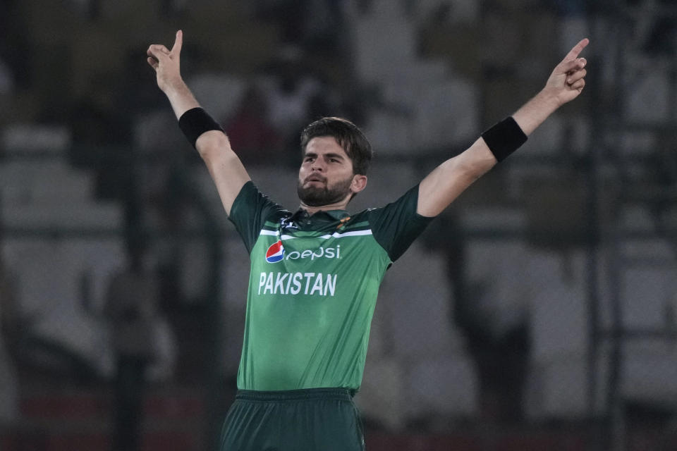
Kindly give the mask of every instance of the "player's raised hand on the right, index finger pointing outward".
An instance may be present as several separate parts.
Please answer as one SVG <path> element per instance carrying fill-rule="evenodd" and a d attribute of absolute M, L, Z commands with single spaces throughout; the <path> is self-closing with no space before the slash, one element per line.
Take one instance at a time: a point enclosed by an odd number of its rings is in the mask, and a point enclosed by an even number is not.
<path fill-rule="evenodd" d="M 564 59 L 555 66 L 545 84 L 544 92 L 547 92 L 552 98 L 556 99 L 559 105 L 572 101 L 583 91 L 585 87 L 585 58 L 579 58 L 585 46 L 590 41 L 581 39 L 573 49 L 569 51 Z"/>

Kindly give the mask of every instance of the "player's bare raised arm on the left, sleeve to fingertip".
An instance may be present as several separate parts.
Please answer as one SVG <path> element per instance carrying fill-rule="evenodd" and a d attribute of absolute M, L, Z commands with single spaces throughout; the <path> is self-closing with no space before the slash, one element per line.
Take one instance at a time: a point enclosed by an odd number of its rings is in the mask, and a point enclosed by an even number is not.
<path fill-rule="evenodd" d="M 250 178 L 240 159 L 231 149 L 231 143 L 223 130 L 209 124 L 205 125 L 203 118 L 209 116 L 201 110 L 196 110 L 200 108 L 200 104 L 181 78 L 182 45 L 183 32 L 178 30 L 171 50 L 162 44 L 152 44 L 146 52 L 147 61 L 154 68 L 157 86 L 169 99 L 176 118 L 182 125 L 188 122 L 188 128 L 195 132 L 196 136 L 188 139 L 191 142 L 195 139 L 193 143 L 195 149 L 200 153 L 209 174 L 212 175 L 226 214 L 231 214 L 233 201 Z M 190 121 L 187 121 L 188 119 Z M 183 126 L 182 130 L 185 130 Z"/>

